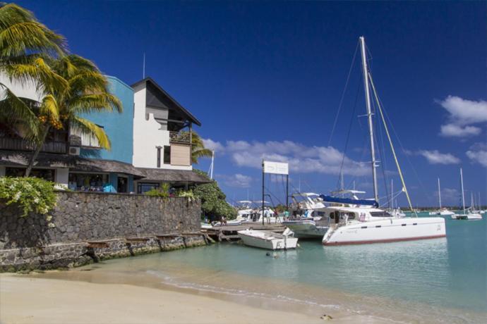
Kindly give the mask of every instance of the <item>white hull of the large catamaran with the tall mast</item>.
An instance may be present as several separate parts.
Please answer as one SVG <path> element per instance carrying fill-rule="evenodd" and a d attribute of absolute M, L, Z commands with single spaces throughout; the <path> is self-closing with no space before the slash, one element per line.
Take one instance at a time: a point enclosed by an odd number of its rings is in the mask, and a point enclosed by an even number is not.
<path fill-rule="evenodd" d="M 372 244 L 445 237 L 445 219 L 392 218 L 343 225 L 329 230 L 323 245 Z"/>

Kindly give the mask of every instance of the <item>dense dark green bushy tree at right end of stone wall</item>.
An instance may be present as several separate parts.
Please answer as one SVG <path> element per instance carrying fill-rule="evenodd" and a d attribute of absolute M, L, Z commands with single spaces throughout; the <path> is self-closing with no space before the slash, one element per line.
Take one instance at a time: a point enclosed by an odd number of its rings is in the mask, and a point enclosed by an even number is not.
<path fill-rule="evenodd" d="M 193 172 L 208 177 L 203 171 L 193 170 Z M 193 189 L 193 194 L 195 197 L 201 199 L 203 214 L 211 220 L 220 220 L 222 216 L 227 219 L 236 218 L 235 208 L 225 201 L 227 196 L 225 196 L 220 187 L 218 187 L 215 180 L 212 180 L 211 183 L 196 186 L 196 188 Z"/>

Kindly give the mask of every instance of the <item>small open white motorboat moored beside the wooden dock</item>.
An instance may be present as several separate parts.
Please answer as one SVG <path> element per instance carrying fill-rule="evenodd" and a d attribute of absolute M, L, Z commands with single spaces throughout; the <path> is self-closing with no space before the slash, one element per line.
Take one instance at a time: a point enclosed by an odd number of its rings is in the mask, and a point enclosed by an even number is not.
<path fill-rule="evenodd" d="M 298 239 L 294 232 L 286 228 L 282 234 L 267 230 L 239 230 L 239 237 L 248 247 L 259 247 L 268 250 L 296 249 Z"/>

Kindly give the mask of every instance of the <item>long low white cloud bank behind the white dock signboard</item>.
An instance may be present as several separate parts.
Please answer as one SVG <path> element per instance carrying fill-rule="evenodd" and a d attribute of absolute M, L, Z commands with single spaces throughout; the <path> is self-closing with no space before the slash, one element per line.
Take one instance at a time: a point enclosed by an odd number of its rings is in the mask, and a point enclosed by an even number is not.
<path fill-rule="evenodd" d="M 291 141 L 227 141 L 222 147 L 237 166 L 261 168 L 265 158 L 269 161 L 287 162 L 291 172 L 295 173 L 337 175 L 343 158 L 343 153 L 334 147 L 307 147 Z M 361 176 L 368 175 L 370 168 L 368 163 L 354 161 L 345 156 L 342 171 L 344 175 Z"/>

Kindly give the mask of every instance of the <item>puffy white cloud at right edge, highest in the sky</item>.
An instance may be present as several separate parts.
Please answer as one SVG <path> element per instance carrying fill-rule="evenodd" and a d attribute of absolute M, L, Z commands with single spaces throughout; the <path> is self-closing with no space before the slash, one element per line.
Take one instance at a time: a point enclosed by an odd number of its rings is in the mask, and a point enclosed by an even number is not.
<path fill-rule="evenodd" d="M 479 135 L 480 127 L 472 124 L 487 123 L 487 101 L 472 101 L 459 96 L 447 96 L 438 103 L 450 114 L 449 122 L 441 126 L 440 135 L 446 137 L 469 137 Z"/>

